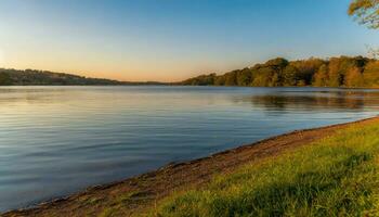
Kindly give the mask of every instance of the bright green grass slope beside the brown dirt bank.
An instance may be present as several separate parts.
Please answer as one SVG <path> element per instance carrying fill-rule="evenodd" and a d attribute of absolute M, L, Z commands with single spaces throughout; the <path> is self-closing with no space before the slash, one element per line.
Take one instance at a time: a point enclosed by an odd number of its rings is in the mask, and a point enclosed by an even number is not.
<path fill-rule="evenodd" d="M 376 216 L 379 126 L 349 128 L 177 192 L 148 216 Z"/>

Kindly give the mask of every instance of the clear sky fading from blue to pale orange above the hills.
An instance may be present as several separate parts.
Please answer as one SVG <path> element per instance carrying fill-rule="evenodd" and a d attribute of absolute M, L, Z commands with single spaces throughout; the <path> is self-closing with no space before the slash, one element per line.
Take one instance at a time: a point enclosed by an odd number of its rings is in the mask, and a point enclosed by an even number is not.
<path fill-rule="evenodd" d="M 0 67 L 180 80 L 271 58 L 365 55 L 350 0 L 1 0 Z"/>

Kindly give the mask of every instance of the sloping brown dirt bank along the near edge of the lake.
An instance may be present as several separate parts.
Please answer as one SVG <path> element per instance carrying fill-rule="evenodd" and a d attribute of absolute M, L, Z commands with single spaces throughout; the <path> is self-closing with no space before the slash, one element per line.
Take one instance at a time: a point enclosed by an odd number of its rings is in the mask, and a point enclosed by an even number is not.
<path fill-rule="evenodd" d="M 352 131 L 349 131 L 351 129 L 361 130 L 378 125 L 379 117 L 375 117 L 295 131 L 209 157 L 169 165 L 121 182 L 94 187 L 66 199 L 41 204 L 36 208 L 13 210 L 2 216 L 132 216 L 148 212 L 165 215 L 166 207 L 170 205 L 178 206 L 172 210 L 179 212 L 180 204 L 175 203 L 175 199 L 183 194 L 175 192 L 204 189 L 214 182 L 214 176 L 230 177 L 241 166 L 260 165 L 262 162 L 267 162 L 264 159 L 276 159 L 284 153 L 315 146 L 318 141 L 337 137 L 344 131 L 351 133 Z M 194 207 L 190 208 L 195 212 Z"/>

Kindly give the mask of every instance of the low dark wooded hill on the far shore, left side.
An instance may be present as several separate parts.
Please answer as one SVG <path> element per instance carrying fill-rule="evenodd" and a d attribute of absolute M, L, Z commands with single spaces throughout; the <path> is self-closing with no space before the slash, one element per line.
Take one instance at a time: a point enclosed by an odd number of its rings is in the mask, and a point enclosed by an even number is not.
<path fill-rule="evenodd" d="M 65 73 L 35 69 L 0 68 L 0 86 L 96 86 L 96 85 L 161 85 L 160 82 L 128 82 L 88 78 Z"/>

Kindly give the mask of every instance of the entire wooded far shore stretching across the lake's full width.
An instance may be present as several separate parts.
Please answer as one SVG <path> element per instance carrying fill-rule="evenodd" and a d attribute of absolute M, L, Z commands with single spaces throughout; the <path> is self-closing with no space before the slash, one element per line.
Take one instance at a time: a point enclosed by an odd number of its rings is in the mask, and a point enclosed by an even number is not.
<path fill-rule="evenodd" d="M 204 74 L 182 81 L 120 81 L 37 69 L 0 68 L 0 86 L 221 86 L 379 88 L 379 60 L 364 56 L 269 60 L 223 75 Z"/>

